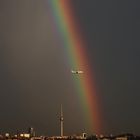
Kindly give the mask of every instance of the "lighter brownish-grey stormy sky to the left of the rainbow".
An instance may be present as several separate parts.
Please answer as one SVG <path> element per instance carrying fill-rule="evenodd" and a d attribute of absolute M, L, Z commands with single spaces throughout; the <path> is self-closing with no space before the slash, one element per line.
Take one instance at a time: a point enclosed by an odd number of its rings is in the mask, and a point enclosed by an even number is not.
<path fill-rule="evenodd" d="M 1 0 L 0 6 L 1 132 L 32 126 L 39 134 L 59 135 L 61 103 L 65 133 L 83 130 L 68 58 L 51 29 L 47 2 Z"/>

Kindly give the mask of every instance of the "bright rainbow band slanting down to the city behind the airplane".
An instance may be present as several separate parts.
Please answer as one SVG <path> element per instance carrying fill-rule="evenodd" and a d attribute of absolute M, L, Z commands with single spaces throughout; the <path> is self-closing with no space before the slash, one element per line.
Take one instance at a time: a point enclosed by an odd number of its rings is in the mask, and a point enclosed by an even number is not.
<path fill-rule="evenodd" d="M 51 11 L 52 26 L 57 30 L 63 46 L 67 51 L 69 65 L 74 70 L 82 70 L 84 74 L 74 76 L 74 82 L 83 105 L 85 119 L 91 133 L 101 132 L 101 114 L 99 99 L 95 90 L 93 70 L 90 68 L 85 41 L 80 26 L 74 18 L 71 0 L 48 0 Z M 56 31 L 54 31 L 56 32 Z"/>

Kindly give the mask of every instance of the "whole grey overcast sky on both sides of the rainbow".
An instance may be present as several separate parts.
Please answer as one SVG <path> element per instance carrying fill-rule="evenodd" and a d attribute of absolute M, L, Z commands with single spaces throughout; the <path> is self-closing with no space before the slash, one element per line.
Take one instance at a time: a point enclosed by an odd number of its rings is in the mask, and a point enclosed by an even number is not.
<path fill-rule="evenodd" d="M 0 0 L 0 132 L 86 130 L 67 55 L 53 37 L 47 0 Z M 101 98 L 103 134 L 140 134 L 140 2 L 71 0 Z M 57 42 L 57 43 L 56 43 Z M 74 114 L 74 115 L 73 115 Z"/>

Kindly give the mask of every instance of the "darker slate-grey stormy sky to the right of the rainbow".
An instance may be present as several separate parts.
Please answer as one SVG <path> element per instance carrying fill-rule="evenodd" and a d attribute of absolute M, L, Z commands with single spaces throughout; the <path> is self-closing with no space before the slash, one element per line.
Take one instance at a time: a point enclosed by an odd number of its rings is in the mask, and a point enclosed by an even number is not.
<path fill-rule="evenodd" d="M 73 5 L 98 82 L 104 132 L 139 134 L 140 2 L 77 0 Z"/>

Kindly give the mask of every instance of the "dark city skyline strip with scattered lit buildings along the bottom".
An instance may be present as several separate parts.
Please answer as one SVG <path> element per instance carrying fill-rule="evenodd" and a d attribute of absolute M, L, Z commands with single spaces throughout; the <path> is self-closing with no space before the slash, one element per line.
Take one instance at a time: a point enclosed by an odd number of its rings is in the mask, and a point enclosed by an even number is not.
<path fill-rule="evenodd" d="M 135 136 L 133 134 L 121 134 L 116 136 L 97 136 L 90 135 L 86 136 L 85 133 L 82 135 L 73 136 L 31 136 L 30 134 L 19 134 L 10 136 L 8 133 L 5 135 L 0 135 L 0 140 L 140 140 L 140 136 Z"/>

